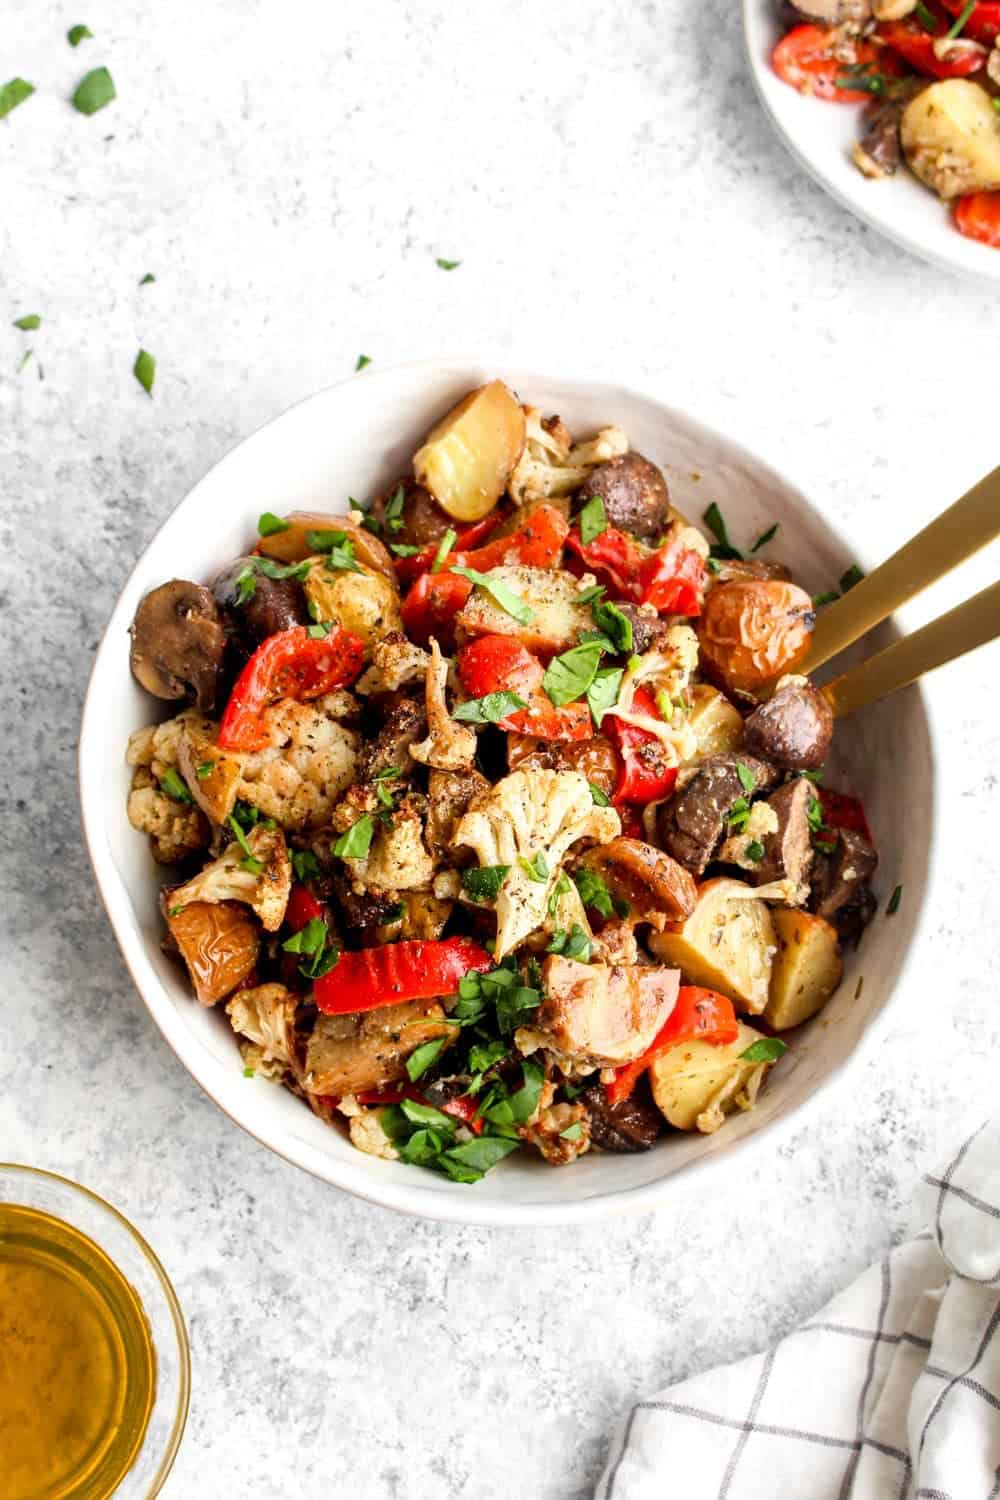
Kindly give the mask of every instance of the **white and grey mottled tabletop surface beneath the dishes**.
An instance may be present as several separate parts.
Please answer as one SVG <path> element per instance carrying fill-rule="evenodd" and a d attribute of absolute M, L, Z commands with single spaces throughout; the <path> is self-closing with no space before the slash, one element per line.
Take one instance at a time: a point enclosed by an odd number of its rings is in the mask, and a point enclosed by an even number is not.
<path fill-rule="evenodd" d="M 0 123 L 1 1154 L 105 1192 L 174 1276 L 195 1384 L 171 1500 L 577 1500 L 636 1394 L 819 1306 L 996 1100 L 996 650 L 936 686 L 951 878 L 879 1060 L 724 1197 L 561 1238 L 345 1198 L 174 1062 L 78 834 L 94 642 L 190 483 L 361 351 L 655 376 L 882 555 L 997 460 L 996 297 L 792 165 L 723 0 L 15 0 L 6 32 L 39 93 Z M 64 96 L 97 63 L 120 98 L 87 120 Z M 40 333 L 7 327 L 24 312 Z M 28 344 L 45 381 L 15 375 Z"/>

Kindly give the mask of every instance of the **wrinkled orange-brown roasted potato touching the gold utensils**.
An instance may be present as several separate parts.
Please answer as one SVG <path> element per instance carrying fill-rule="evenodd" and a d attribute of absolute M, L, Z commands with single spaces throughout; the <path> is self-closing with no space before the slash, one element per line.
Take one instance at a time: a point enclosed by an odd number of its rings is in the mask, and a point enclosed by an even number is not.
<path fill-rule="evenodd" d="M 720 584 L 699 622 L 702 666 L 729 692 L 754 693 L 802 660 L 814 622 L 813 600 L 796 584 Z"/>

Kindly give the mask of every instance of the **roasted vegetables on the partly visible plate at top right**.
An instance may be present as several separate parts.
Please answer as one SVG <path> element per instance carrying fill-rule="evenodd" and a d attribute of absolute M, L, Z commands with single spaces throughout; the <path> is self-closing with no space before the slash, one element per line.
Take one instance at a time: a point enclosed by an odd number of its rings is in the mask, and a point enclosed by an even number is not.
<path fill-rule="evenodd" d="M 1000 249 L 1000 0 L 781 0 L 772 54 L 799 93 L 862 104 L 853 160 L 900 165 Z"/>

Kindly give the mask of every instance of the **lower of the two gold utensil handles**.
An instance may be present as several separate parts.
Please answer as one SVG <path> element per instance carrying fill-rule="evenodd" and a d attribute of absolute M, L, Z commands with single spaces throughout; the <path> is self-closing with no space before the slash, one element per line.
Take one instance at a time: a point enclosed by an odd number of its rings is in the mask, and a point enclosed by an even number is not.
<path fill-rule="evenodd" d="M 1000 582 L 835 676 L 822 692 L 838 718 L 1000 636 Z"/>

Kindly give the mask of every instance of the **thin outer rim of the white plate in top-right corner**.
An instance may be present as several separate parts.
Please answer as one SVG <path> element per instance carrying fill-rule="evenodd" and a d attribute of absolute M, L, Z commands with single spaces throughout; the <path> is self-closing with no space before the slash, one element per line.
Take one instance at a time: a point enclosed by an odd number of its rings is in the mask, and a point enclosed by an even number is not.
<path fill-rule="evenodd" d="M 922 261 L 928 261 L 939 270 L 951 272 L 955 276 L 964 276 L 970 280 L 975 280 L 982 288 L 996 286 L 996 284 L 1000 280 L 1000 254 L 993 250 L 993 256 L 996 261 L 996 264 L 993 264 L 991 261 L 985 260 L 985 256 L 990 255 L 990 246 L 985 244 L 979 246 L 976 244 L 975 240 L 966 240 L 952 225 L 949 231 L 949 240 L 942 240 L 942 246 L 948 244 L 951 242 L 951 237 L 954 237 L 958 242 L 958 244 L 955 246 L 955 254 L 951 255 L 946 249 L 939 246 L 937 232 L 933 226 L 933 220 L 930 219 L 928 219 L 930 228 L 927 231 L 927 237 L 907 232 L 907 230 L 900 228 L 892 220 L 891 213 L 877 212 L 877 206 L 885 201 L 883 198 L 879 196 L 879 194 L 873 195 L 871 207 L 868 206 L 867 198 L 862 200 L 861 195 L 858 198 L 853 198 L 832 178 L 832 176 L 825 170 L 822 160 L 819 160 L 802 146 L 796 134 L 789 128 L 786 120 L 781 117 L 781 112 L 775 106 L 774 100 L 781 96 L 772 90 L 771 84 L 774 80 L 771 70 L 768 69 L 768 64 L 762 62 L 757 50 L 759 32 L 763 24 L 759 14 L 760 8 L 762 8 L 762 0 L 742 0 L 744 51 L 750 63 L 750 75 L 753 78 L 757 98 L 763 106 L 763 111 L 775 135 L 783 142 L 790 156 L 795 158 L 795 160 L 799 164 L 799 166 L 804 168 L 804 171 L 808 172 L 813 182 L 819 183 L 823 192 L 829 194 L 829 196 L 834 198 L 835 202 L 841 206 L 841 208 L 846 208 L 856 219 L 861 219 L 862 224 L 868 225 L 868 228 L 876 230 L 879 234 L 883 234 L 888 240 L 892 240 L 892 243 L 897 244 L 900 249 L 907 250 L 910 255 L 916 255 Z M 870 183 L 868 186 L 873 184 Z M 928 207 L 933 210 L 934 195 L 931 194 L 930 189 L 927 189 L 927 192 L 928 192 Z M 976 246 L 976 249 L 973 250 L 972 246 Z M 982 250 L 982 256 L 978 254 L 979 250 Z"/>

